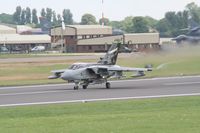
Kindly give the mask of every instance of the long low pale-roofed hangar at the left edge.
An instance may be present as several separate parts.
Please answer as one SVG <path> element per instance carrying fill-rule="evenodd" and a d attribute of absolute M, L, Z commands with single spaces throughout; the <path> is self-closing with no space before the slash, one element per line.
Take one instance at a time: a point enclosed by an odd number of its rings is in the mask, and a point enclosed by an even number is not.
<path fill-rule="evenodd" d="M 46 48 L 50 48 L 50 36 L 20 35 L 16 33 L 16 28 L 0 25 L 0 47 L 6 47 L 10 53 L 29 52 L 32 47 L 37 45 L 43 45 Z"/>

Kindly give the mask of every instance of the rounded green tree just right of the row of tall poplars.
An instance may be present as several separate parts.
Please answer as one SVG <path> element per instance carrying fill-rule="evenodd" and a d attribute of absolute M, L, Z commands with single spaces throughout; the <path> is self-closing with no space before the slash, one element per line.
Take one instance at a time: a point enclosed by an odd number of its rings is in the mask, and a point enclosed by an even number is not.
<path fill-rule="evenodd" d="M 97 24 L 95 16 L 92 14 L 84 14 L 81 18 L 82 25 L 93 25 Z"/>

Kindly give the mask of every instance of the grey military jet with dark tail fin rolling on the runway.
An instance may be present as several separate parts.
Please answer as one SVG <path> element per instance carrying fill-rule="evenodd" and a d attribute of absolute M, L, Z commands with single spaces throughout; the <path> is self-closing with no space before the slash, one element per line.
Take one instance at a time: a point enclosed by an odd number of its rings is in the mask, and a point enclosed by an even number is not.
<path fill-rule="evenodd" d="M 49 79 L 61 78 L 68 82 L 75 83 L 74 90 L 79 86 L 87 89 L 89 84 L 102 84 L 105 83 L 106 88 L 111 85 L 108 82 L 110 78 L 121 78 L 123 72 L 136 72 L 133 76 L 144 76 L 145 71 L 152 71 L 152 68 L 129 68 L 116 65 L 117 56 L 120 50 L 130 51 L 127 47 L 117 43 L 111 45 L 110 49 L 103 58 L 97 63 L 74 63 L 68 69 L 54 70 L 53 75 Z"/>

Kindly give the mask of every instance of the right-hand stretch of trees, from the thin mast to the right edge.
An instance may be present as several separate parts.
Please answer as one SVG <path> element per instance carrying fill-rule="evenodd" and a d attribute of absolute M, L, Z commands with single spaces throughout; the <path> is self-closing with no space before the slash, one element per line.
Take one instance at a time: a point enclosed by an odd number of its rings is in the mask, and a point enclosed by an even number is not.
<path fill-rule="evenodd" d="M 194 2 L 185 6 L 183 11 L 169 11 L 164 18 L 156 20 L 152 17 L 126 17 L 122 21 L 111 21 L 112 27 L 127 33 L 159 32 L 161 37 L 175 37 L 187 34 L 188 20 L 192 19 L 200 24 L 200 7 Z"/>

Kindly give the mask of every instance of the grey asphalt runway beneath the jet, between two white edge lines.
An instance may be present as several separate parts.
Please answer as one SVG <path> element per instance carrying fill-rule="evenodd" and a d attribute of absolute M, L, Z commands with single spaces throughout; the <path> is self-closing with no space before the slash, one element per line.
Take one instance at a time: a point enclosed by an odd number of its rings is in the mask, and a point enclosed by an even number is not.
<path fill-rule="evenodd" d="M 111 81 L 73 90 L 73 84 L 0 87 L 0 107 L 200 95 L 200 76 Z"/>

